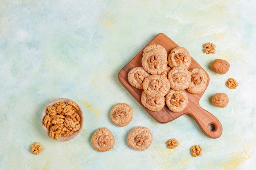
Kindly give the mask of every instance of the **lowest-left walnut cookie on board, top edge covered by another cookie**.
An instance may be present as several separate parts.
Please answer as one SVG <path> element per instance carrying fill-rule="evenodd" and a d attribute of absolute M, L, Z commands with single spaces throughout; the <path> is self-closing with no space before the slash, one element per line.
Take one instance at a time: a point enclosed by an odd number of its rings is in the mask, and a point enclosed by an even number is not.
<path fill-rule="evenodd" d="M 141 103 L 143 104 L 143 106 L 148 108 L 148 110 L 157 112 L 164 108 L 165 99 L 164 96 L 159 98 L 150 97 L 143 91 L 141 94 Z"/>

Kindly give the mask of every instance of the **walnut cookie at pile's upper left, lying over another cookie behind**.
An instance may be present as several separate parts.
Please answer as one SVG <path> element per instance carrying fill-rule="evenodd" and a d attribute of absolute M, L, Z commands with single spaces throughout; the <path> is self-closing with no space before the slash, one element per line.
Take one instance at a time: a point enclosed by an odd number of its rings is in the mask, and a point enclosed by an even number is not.
<path fill-rule="evenodd" d="M 167 53 L 151 50 L 142 54 L 141 63 L 146 72 L 150 74 L 161 74 L 167 67 Z"/>

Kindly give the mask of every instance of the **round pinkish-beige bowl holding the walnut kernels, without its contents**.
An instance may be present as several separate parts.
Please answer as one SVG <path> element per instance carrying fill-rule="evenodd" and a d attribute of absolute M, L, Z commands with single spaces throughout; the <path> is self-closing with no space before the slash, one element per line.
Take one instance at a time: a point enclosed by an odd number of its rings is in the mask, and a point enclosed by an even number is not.
<path fill-rule="evenodd" d="M 45 115 L 47 115 L 47 107 L 48 107 L 48 106 L 53 106 L 54 104 L 56 104 L 56 103 L 58 103 L 58 102 L 65 102 L 65 103 L 67 103 L 67 102 L 74 102 L 74 101 L 71 100 L 71 99 L 67 99 L 67 98 L 59 98 L 59 99 L 53 100 L 52 102 L 49 102 L 49 103 L 45 106 L 45 108 L 44 108 L 44 110 L 43 110 L 43 113 L 42 113 L 42 117 L 41 117 L 41 124 L 42 124 L 43 130 L 45 131 L 46 135 L 48 135 L 48 136 L 49 136 L 50 128 L 46 128 L 46 127 L 45 127 L 45 124 L 43 123 L 43 120 L 44 120 L 44 118 L 45 118 Z M 75 132 L 73 132 L 72 135 L 70 135 L 70 136 L 61 136 L 60 138 L 54 139 L 54 140 L 56 140 L 56 141 L 69 141 L 69 140 L 73 139 L 74 137 L 76 137 L 76 136 L 81 132 L 81 130 L 82 130 L 82 128 L 83 128 L 83 110 L 81 109 L 81 107 L 80 107 L 76 102 L 74 102 L 74 103 L 75 103 L 75 104 L 78 106 L 78 108 L 79 108 L 79 110 L 77 110 L 76 113 L 79 114 L 80 119 L 81 119 L 81 120 L 79 121 L 79 124 L 80 124 L 80 126 L 81 126 L 80 129 L 77 130 L 77 131 L 75 131 Z M 49 137 L 50 137 L 50 136 L 49 136 Z M 52 138 L 51 138 L 51 139 L 52 139 Z"/>

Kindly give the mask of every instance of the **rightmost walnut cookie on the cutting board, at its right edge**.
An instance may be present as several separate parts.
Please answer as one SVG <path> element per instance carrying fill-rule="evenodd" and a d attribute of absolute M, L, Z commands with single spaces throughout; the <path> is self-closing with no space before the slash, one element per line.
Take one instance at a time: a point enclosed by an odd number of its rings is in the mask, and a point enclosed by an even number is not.
<path fill-rule="evenodd" d="M 192 68 L 189 72 L 191 73 L 191 82 L 186 90 L 192 94 L 199 94 L 204 91 L 208 80 L 205 71 L 200 68 Z"/>

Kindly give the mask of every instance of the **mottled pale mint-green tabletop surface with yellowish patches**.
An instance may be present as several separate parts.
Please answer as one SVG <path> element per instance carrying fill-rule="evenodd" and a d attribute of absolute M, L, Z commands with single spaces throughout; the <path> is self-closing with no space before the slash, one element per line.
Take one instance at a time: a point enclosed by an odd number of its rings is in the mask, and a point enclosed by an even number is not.
<path fill-rule="evenodd" d="M 254 0 L 0 0 L 0 169 L 1 170 L 252 170 L 256 166 L 256 1 Z M 158 33 L 164 33 L 207 71 L 210 83 L 200 106 L 215 115 L 222 136 L 204 135 L 192 117 L 167 124 L 153 119 L 121 86 L 117 74 Z M 206 55 L 202 44 L 216 44 Z M 213 60 L 230 63 L 225 75 Z M 239 86 L 229 89 L 228 78 Z M 215 93 L 229 104 L 211 104 Z M 50 101 L 66 97 L 84 112 L 84 126 L 73 140 L 50 139 L 41 113 Z M 110 121 L 115 104 L 132 107 L 125 127 Z M 195 110 L 196 111 L 196 110 Z M 128 132 L 145 126 L 153 143 L 132 150 Z M 92 133 L 107 127 L 115 146 L 97 152 Z M 180 145 L 168 149 L 176 138 Z M 39 155 L 30 152 L 38 141 Z M 192 157 L 199 144 L 202 156 Z"/>

